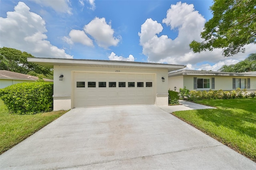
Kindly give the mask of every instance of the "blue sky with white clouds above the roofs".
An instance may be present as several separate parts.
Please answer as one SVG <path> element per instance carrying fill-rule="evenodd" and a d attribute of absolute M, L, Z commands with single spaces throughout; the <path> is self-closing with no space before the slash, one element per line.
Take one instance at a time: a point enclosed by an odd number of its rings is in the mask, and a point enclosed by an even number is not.
<path fill-rule="evenodd" d="M 0 47 L 35 57 L 103 59 L 187 65 L 216 71 L 250 53 L 193 53 L 212 0 L 0 0 Z"/>

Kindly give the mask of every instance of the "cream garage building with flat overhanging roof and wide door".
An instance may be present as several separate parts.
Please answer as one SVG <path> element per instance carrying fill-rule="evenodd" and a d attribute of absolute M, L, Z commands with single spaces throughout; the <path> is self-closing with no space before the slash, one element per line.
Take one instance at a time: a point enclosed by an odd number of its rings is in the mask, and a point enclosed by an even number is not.
<path fill-rule="evenodd" d="M 28 58 L 54 69 L 54 111 L 77 107 L 168 105 L 168 72 L 184 65 Z"/>

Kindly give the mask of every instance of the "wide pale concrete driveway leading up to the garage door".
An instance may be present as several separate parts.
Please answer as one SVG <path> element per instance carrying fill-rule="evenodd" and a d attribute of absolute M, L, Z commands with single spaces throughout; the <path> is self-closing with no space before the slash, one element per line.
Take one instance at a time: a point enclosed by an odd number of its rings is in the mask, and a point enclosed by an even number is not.
<path fill-rule="evenodd" d="M 0 155 L 0 169 L 256 169 L 155 105 L 72 109 Z"/>

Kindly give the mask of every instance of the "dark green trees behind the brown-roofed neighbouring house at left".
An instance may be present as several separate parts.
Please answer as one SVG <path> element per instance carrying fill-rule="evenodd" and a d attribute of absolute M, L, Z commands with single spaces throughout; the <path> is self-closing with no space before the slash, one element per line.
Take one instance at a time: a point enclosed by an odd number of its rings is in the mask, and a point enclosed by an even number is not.
<path fill-rule="evenodd" d="M 43 77 L 51 79 L 53 75 L 52 69 L 42 65 L 29 63 L 27 57 L 34 56 L 18 49 L 2 47 L 0 48 L 0 70 L 8 70 L 34 76 L 40 75 L 41 77 L 43 75 Z"/>

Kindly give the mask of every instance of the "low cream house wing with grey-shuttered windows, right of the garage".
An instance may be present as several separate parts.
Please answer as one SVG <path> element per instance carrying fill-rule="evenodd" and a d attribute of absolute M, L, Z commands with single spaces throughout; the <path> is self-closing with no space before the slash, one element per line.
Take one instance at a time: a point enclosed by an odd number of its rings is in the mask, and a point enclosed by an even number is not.
<path fill-rule="evenodd" d="M 178 70 L 168 73 L 170 90 L 186 87 L 191 90 L 224 90 L 232 91 L 236 88 L 256 91 L 256 71 L 245 73 L 229 73 L 204 70 Z"/>

